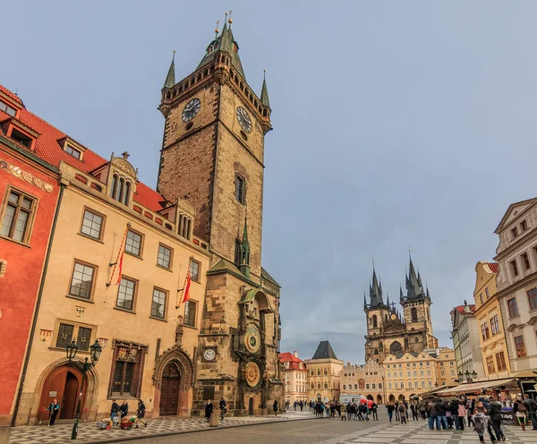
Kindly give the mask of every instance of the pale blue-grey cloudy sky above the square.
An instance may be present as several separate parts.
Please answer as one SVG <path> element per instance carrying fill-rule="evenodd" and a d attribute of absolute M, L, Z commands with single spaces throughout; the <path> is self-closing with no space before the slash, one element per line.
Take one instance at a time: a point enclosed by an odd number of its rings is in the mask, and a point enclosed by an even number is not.
<path fill-rule="evenodd" d="M 282 286 L 282 351 L 328 339 L 363 363 L 372 259 L 397 299 L 408 249 L 452 346 L 510 203 L 537 195 L 532 1 L 20 1 L 2 6 L 0 83 L 155 186 L 160 89 L 192 73 L 233 10 L 246 80 L 263 70 L 263 263 Z M 16 18 L 16 20 L 15 20 Z"/>

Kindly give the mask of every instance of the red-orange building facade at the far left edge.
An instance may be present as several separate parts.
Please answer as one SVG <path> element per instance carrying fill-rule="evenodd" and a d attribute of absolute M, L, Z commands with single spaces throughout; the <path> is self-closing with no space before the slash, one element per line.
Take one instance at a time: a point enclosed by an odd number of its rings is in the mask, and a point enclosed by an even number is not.
<path fill-rule="evenodd" d="M 0 425 L 12 421 L 58 192 L 57 170 L 0 130 Z"/>

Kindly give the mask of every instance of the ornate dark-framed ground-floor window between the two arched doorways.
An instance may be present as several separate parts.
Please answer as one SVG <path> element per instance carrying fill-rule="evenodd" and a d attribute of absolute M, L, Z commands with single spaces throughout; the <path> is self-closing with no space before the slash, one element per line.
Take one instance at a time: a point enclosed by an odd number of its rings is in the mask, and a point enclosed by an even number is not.
<path fill-rule="evenodd" d="M 115 341 L 108 397 L 140 397 L 147 346 Z"/>

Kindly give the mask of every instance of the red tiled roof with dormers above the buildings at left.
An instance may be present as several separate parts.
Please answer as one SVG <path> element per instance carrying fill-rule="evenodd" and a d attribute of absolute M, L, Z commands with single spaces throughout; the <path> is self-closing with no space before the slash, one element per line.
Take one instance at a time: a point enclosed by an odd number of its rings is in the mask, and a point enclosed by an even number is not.
<path fill-rule="evenodd" d="M 0 91 L 22 104 L 21 98 L 16 96 L 12 91 L 7 90 L 4 86 L 0 85 Z M 0 111 L 0 122 L 10 118 L 12 118 L 10 115 Z M 69 136 L 55 128 L 55 126 L 52 124 L 45 122 L 43 119 L 38 117 L 38 115 L 30 113 L 30 111 L 28 111 L 25 107 L 21 108 L 18 120 L 21 122 L 21 124 L 28 126 L 35 132 L 38 132 L 39 136 L 34 146 L 35 154 L 53 166 L 60 166 L 60 162 L 64 160 L 66 164 L 74 166 L 75 168 L 90 174 L 90 171 L 94 170 L 98 166 L 107 164 L 108 162 L 107 159 L 101 158 L 91 149 L 86 149 L 84 151 L 84 155 L 82 157 L 83 161 L 73 158 L 71 155 L 67 154 L 64 149 L 62 149 L 58 142 L 59 140 Z M 70 137 L 70 139 L 72 138 Z M 72 140 L 74 141 L 74 139 Z M 79 143 L 79 145 L 84 147 L 81 143 Z M 148 209 L 158 211 L 162 209 L 160 202 L 165 201 L 165 199 L 158 192 L 140 182 L 136 185 L 134 201 L 137 201 Z"/>

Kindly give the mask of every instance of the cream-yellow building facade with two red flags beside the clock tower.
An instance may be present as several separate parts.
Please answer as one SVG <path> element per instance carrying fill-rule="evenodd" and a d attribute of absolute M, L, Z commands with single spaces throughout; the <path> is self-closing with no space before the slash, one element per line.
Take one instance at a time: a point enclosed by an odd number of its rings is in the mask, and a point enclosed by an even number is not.
<path fill-rule="evenodd" d="M 55 397 L 62 397 L 58 401 L 65 410 L 72 408 L 70 397 L 80 389 L 80 374 L 66 367 L 64 346 L 71 339 L 79 341 L 80 348 L 87 348 L 96 340 L 103 346 L 97 365 L 87 373 L 84 382 L 82 417 L 107 417 L 112 398 L 127 400 L 133 412 L 138 397 L 144 400 L 149 417 L 189 415 L 192 363 L 198 346 L 209 252 L 197 245 L 203 243 L 192 235 L 184 232 L 190 237 L 187 239 L 177 234 L 179 213 L 185 216 L 191 210 L 188 202 L 180 201 L 163 215 L 143 208 L 138 202 L 132 204 L 135 186 L 126 205 L 109 197 L 109 184 L 115 172 L 122 172 L 136 184 L 136 173 L 123 158 L 113 158 L 99 179 L 64 163 L 61 172 L 64 195 L 38 313 L 38 334 L 30 345 L 30 365 L 17 423 L 40 419 L 43 407 Z M 101 218 L 93 232 L 88 229 L 88 211 Z M 157 219 L 164 221 L 163 225 Z M 135 283 L 132 307 L 125 304 L 126 293 L 119 297 L 120 287 L 126 281 L 115 285 L 115 275 L 111 285 L 107 285 L 114 269 L 110 264 L 117 258 L 127 226 L 141 236 L 139 254 L 124 253 L 123 278 Z M 132 250 L 132 240 L 128 243 L 131 244 L 127 250 L 136 252 Z M 159 254 L 161 246 L 170 253 L 168 260 Z M 178 289 L 183 288 L 191 260 L 198 266 L 198 276 L 192 275 L 191 312 L 185 313 L 186 304 L 177 307 L 177 296 L 183 295 Z M 86 269 L 76 269 L 77 264 Z M 77 280 L 81 270 L 90 273 L 90 269 L 91 278 Z M 90 286 L 89 294 L 81 292 L 87 289 L 84 285 Z M 196 310 L 192 316 L 193 303 Z M 80 350 L 78 356 L 84 359 L 89 354 Z M 124 374 L 119 374 L 121 371 Z M 58 385 L 54 379 L 60 373 L 66 374 L 62 376 L 66 380 Z M 172 400 L 166 406 L 161 389 L 172 382 L 178 385 L 179 395 L 176 404 Z M 70 412 L 65 411 L 64 416 L 60 412 L 59 419 L 69 415 Z"/>

